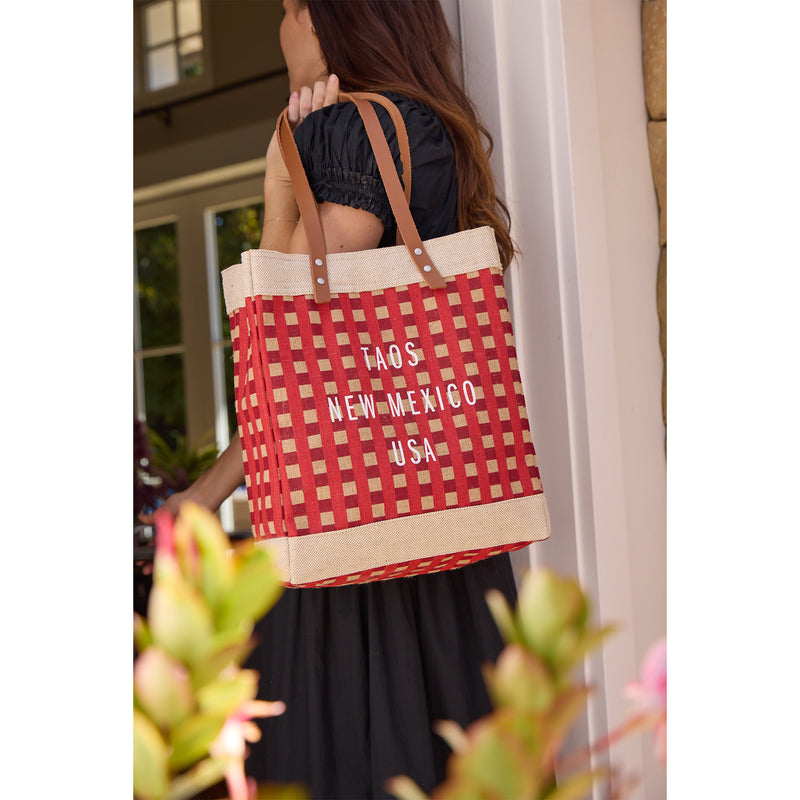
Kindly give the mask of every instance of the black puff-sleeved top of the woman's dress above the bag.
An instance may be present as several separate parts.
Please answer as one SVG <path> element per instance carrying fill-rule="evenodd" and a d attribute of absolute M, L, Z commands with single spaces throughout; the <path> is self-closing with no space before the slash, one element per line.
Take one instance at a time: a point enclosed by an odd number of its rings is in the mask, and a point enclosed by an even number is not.
<path fill-rule="evenodd" d="M 411 213 L 423 239 L 452 233 L 457 187 L 453 147 L 439 117 L 427 106 L 388 93 L 406 123 L 411 147 Z M 402 162 L 394 125 L 373 104 L 398 174 Z M 381 245 L 393 244 L 395 223 L 364 124 L 353 103 L 337 103 L 309 114 L 295 141 L 317 202 L 339 203 L 374 214 L 386 230 Z"/>

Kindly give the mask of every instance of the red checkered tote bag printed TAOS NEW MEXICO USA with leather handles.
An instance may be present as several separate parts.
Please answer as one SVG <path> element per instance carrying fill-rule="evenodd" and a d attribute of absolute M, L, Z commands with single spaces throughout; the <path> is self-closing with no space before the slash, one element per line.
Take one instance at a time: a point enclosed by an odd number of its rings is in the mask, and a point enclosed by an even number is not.
<path fill-rule="evenodd" d="M 453 569 L 550 534 L 494 231 L 421 241 L 399 111 L 341 99 L 402 244 L 326 253 L 284 111 L 310 255 L 249 250 L 222 273 L 253 536 L 289 586 Z M 405 188 L 370 100 L 390 111 Z"/>

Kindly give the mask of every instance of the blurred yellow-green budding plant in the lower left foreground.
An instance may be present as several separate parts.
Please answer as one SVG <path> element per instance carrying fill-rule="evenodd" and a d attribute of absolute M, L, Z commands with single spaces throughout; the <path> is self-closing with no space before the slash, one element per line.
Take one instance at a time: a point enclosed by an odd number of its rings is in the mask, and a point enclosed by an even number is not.
<path fill-rule="evenodd" d="M 249 720 L 281 712 L 255 700 L 258 673 L 241 664 L 282 584 L 266 551 L 252 541 L 232 549 L 197 505 L 185 503 L 174 523 L 162 515 L 156 529 L 147 620 L 134 615 L 134 794 L 181 800 L 243 774 Z M 298 787 L 259 792 L 306 797 Z"/>

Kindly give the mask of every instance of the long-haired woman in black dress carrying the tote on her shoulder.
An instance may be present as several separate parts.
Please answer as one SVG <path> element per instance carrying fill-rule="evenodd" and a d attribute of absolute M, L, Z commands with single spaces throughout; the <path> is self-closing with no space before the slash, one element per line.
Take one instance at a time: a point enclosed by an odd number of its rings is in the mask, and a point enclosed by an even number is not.
<path fill-rule="evenodd" d="M 394 101 L 411 145 L 411 211 L 423 239 L 492 226 L 503 266 L 513 254 L 505 206 L 495 196 L 485 130 L 455 79 L 454 44 L 438 0 L 284 0 L 280 42 L 289 71 L 289 120 L 320 206 L 329 251 L 395 243 L 396 228 L 356 108 L 338 91 Z M 396 163 L 393 126 L 376 106 Z M 488 138 L 488 137 L 487 137 Z M 264 179 L 261 247 L 307 253 L 303 225 L 276 140 Z M 216 508 L 244 479 L 238 436 L 187 492 Z M 298 782 L 315 798 L 387 796 L 394 775 L 430 791 L 449 750 L 439 719 L 466 726 L 490 711 L 481 664 L 502 642 L 485 603 L 510 602 L 507 554 L 413 578 L 328 589 L 287 589 L 258 628 L 248 666 L 260 696 L 287 711 L 265 720 L 247 774 Z"/>

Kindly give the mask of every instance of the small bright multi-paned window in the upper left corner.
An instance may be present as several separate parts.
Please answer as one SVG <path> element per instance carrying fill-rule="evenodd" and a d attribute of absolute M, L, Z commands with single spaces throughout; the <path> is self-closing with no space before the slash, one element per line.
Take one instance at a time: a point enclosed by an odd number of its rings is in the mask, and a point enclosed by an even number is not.
<path fill-rule="evenodd" d="M 140 7 L 144 85 L 150 92 L 204 72 L 200 0 L 155 0 Z"/>

